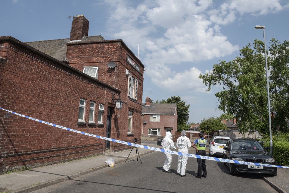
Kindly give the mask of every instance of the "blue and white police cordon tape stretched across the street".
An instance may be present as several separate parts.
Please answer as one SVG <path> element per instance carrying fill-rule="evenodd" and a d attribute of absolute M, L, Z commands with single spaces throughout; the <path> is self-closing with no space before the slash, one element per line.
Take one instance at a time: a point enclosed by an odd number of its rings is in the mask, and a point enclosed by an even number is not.
<path fill-rule="evenodd" d="M 73 131 L 75 133 L 84 134 L 84 135 L 88 135 L 88 136 L 91 136 L 91 137 L 104 139 L 104 140 L 107 140 L 107 141 L 112 141 L 112 142 L 125 144 L 125 145 L 129 145 L 129 146 L 133 146 L 133 147 L 140 147 L 140 148 L 144 148 L 144 149 L 148 149 L 148 150 L 160 151 L 160 152 L 163 152 L 163 153 L 170 153 L 170 154 L 175 154 L 175 155 L 180 155 L 180 156 L 188 156 L 188 157 L 200 158 L 200 159 L 205 159 L 205 160 L 212 160 L 212 161 L 217 161 L 217 162 L 226 162 L 226 163 L 235 163 L 235 164 L 242 164 L 242 165 L 277 167 L 277 168 L 289 169 L 289 166 L 278 166 L 278 165 L 271 165 L 271 164 L 264 164 L 264 163 L 252 163 L 252 162 L 229 160 L 229 159 L 223 159 L 223 158 L 217 158 L 217 157 L 200 156 L 200 155 L 195 155 L 195 154 L 191 154 L 191 153 L 181 153 L 181 152 L 177 152 L 177 151 L 164 150 L 164 149 L 160 149 L 160 148 L 156 148 L 156 147 L 150 147 L 150 146 L 146 146 L 146 145 L 134 144 L 134 143 L 126 142 L 126 141 L 120 141 L 120 140 L 116 140 L 116 139 L 112 139 L 112 138 L 102 137 L 102 136 L 98 136 L 98 135 L 94 135 L 94 134 L 90 134 L 90 133 L 85 133 L 85 132 L 82 132 L 82 131 L 77 131 L 77 130 L 74 130 L 74 129 L 63 127 L 61 125 L 56 125 L 56 124 L 53 124 L 53 123 L 50 123 L 50 122 L 46 122 L 46 121 L 42 121 L 42 120 L 39 120 L 39 119 L 35 119 L 33 117 L 22 115 L 22 114 L 19 114 L 17 112 L 9 111 L 9 110 L 3 109 L 1 107 L 0 107 L 0 109 L 8 111 L 8 112 L 11 112 L 11 113 L 13 113 L 15 115 L 19 115 L 21 117 L 25 117 L 27 119 L 31 119 L 31 120 L 34 120 L 34 121 L 38 121 L 40 123 L 44 123 L 46 125 L 51 125 L 53 127 L 65 129 L 67 131 Z"/>

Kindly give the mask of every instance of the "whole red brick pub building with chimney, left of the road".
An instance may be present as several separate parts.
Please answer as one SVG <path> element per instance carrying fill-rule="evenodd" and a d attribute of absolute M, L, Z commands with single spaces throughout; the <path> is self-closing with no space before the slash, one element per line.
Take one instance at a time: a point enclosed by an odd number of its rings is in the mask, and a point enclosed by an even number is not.
<path fill-rule="evenodd" d="M 122 40 L 88 36 L 88 29 L 81 15 L 73 17 L 68 39 L 1 36 L 0 107 L 82 133 L 140 139 L 144 65 Z M 129 148 L 3 109 L 0 173 Z"/>

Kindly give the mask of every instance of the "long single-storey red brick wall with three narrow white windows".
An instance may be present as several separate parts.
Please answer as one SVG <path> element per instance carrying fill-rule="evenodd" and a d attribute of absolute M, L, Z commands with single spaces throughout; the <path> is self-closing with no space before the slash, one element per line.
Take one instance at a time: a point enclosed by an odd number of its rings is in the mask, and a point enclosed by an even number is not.
<path fill-rule="evenodd" d="M 0 37 L 0 106 L 79 131 L 105 136 L 107 107 L 119 90 L 12 38 Z M 4 46 L 4 47 L 2 47 Z M 86 99 L 86 125 L 77 124 L 79 99 Z M 89 125 L 89 102 L 105 104 L 104 125 Z M 121 136 L 127 114 L 114 110 L 111 138 Z M 97 119 L 98 110 L 95 111 Z M 0 110 L 0 173 L 104 153 L 104 140 L 69 132 Z M 96 120 L 97 121 L 97 120 Z M 124 129 L 125 130 L 125 129 Z M 115 134 L 116 133 L 116 134 Z M 112 144 L 113 147 L 113 144 Z M 127 148 L 117 146 L 116 150 Z"/>

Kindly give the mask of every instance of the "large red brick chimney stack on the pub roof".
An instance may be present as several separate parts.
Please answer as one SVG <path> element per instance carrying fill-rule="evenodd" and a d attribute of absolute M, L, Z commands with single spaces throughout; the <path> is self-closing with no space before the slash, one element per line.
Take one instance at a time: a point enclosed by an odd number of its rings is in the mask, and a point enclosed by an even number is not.
<path fill-rule="evenodd" d="M 81 40 L 84 36 L 88 36 L 89 21 L 83 15 L 73 17 L 70 41 Z"/>

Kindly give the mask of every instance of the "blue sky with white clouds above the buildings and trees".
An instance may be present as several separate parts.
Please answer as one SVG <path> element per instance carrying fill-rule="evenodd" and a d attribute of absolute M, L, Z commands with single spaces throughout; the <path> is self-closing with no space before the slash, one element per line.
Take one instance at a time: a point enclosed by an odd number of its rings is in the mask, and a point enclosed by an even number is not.
<path fill-rule="evenodd" d="M 143 102 L 180 96 L 190 104 L 189 122 L 220 116 L 215 86 L 198 79 L 219 60 L 263 40 L 289 40 L 288 0 L 5 0 L 0 36 L 22 42 L 70 37 L 72 19 L 89 20 L 89 36 L 122 39 L 144 64 Z"/>

